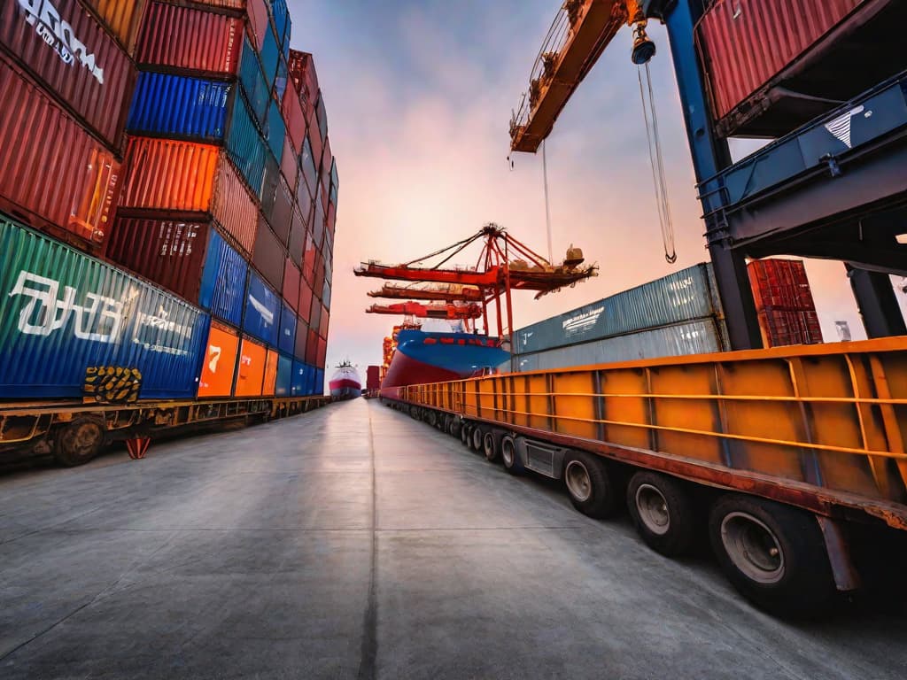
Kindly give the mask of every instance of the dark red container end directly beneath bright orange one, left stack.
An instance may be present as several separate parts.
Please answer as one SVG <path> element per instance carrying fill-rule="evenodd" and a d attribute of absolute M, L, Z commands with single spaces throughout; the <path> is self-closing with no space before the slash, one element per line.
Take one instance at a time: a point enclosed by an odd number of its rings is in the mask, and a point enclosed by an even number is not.
<path fill-rule="evenodd" d="M 106 257 L 198 303 L 210 222 L 118 218 Z"/>

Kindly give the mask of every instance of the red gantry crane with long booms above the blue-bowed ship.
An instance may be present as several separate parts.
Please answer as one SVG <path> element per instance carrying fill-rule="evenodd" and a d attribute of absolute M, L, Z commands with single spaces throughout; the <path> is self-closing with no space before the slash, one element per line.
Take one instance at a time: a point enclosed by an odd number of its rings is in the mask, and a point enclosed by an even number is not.
<path fill-rule="evenodd" d="M 481 244 L 482 249 L 474 267 L 454 267 L 448 265 L 453 257 L 460 254 L 466 248 L 473 244 Z M 434 261 L 434 265 L 427 264 Z M 417 284 L 434 284 L 441 286 L 414 286 L 401 287 L 385 284 L 380 291 L 370 293 L 370 296 L 387 296 L 399 299 L 404 297 L 402 291 L 411 290 L 414 295 L 411 297 L 421 299 L 437 299 L 435 297 L 426 298 L 420 296 L 447 295 L 452 300 L 463 300 L 463 296 L 470 296 L 475 302 L 474 306 L 454 306 L 453 302 L 449 306 L 440 306 L 444 308 L 444 314 L 454 316 L 455 318 L 475 319 L 481 316 L 483 318 L 484 332 L 488 333 L 488 306 L 492 303 L 496 306 L 497 311 L 497 330 L 498 336 L 504 336 L 504 316 L 507 320 L 507 333 L 512 332 L 513 313 L 512 313 L 512 290 L 530 290 L 536 293 L 536 299 L 554 292 L 565 286 L 573 286 L 579 281 L 590 277 L 598 276 L 597 265 L 584 265 L 584 257 L 580 248 L 569 248 L 567 257 L 560 265 L 552 265 L 551 262 L 541 257 L 532 248 L 513 238 L 505 228 L 494 223 L 489 223 L 477 231 L 473 236 L 464 238 L 454 243 L 452 246 L 435 250 L 424 257 L 418 257 L 409 262 L 399 265 L 384 265 L 374 260 L 364 262 L 360 267 L 354 270 L 357 277 L 375 277 L 395 281 L 408 281 Z M 454 296 L 453 291 L 459 287 L 459 296 Z M 478 291 L 478 296 L 472 291 Z M 446 292 L 439 292 L 446 291 Z M 464 291 L 470 291 L 465 293 Z M 504 302 L 502 305 L 502 299 Z M 445 297 L 444 299 L 448 299 Z M 479 304 L 481 303 L 481 307 Z M 395 311 L 385 311 L 393 308 Z M 381 314 L 404 314 L 407 316 L 419 316 L 414 314 L 414 310 L 420 308 L 427 310 L 428 306 L 422 306 L 416 302 L 406 302 L 400 306 L 385 306 L 380 311 L 372 310 Z M 474 312 L 459 312 L 453 309 L 474 309 L 481 308 L 481 315 L 470 316 Z M 440 314 L 440 309 L 434 309 L 435 313 Z M 460 315 L 466 316 L 460 316 Z M 448 317 L 449 317 L 448 316 Z M 426 316 L 427 317 L 427 316 Z M 437 318 L 437 316 L 435 316 Z"/>

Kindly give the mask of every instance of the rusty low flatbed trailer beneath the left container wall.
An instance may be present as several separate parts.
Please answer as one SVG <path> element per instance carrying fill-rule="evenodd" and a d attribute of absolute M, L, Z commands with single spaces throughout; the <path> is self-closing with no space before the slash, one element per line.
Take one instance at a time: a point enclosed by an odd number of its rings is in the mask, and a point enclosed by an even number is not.
<path fill-rule="evenodd" d="M 265 422 L 307 413 L 330 403 L 329 396 L 90 402 L 0 402 L 0 460 L 53 454 L 63 465 L 90 461 L 105 443 L 148 442 L 167 431 L 210 428 L 218 423 Z M 132 445 L 130 452 L 132 453 Z"/>

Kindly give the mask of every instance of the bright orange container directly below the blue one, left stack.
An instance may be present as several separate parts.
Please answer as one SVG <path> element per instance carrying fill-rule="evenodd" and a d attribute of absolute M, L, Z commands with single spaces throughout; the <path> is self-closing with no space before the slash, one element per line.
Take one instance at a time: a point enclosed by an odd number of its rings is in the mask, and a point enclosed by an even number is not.
<path fill-rule="evenodd" d="M 258 208 L 227 158 L 210 144 L 130 137 L 123 209 L 202 213 L 216 219 L 248 255 Z"/>

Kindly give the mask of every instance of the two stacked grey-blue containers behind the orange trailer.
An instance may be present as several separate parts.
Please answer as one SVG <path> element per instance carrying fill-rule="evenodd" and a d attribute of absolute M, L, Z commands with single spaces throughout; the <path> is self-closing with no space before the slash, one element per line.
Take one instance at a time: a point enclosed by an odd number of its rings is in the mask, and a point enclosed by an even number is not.
<path fill-rule="evenodd" d="M 513 334 L 502 371 L 535 371 L 727 350 L 710 264 L 606 297 Z"/>

